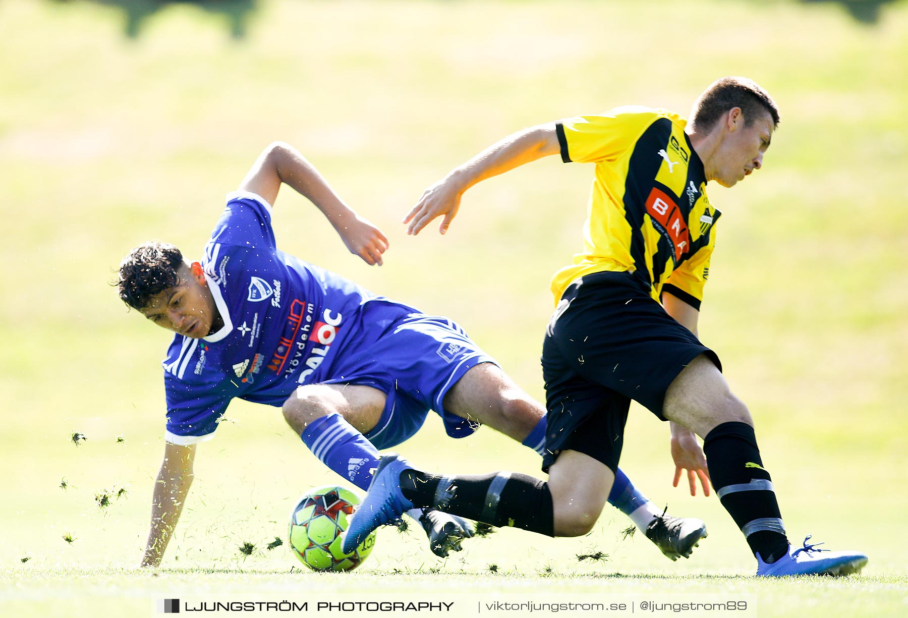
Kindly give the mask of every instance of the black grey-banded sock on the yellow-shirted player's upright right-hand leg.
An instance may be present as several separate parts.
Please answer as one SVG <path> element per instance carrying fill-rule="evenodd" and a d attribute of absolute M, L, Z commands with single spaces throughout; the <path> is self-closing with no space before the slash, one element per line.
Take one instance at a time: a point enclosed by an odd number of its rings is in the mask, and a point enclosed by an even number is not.
<path fill-rule="evenodd" d="M 754 427 L 723 423 L 706 435 L 703 452 L 716 494 L 741 528 L 751 551 L 759 552 L 767 563 L 785 555 L 785 525 L 772 479 L 760 459 Z"/>

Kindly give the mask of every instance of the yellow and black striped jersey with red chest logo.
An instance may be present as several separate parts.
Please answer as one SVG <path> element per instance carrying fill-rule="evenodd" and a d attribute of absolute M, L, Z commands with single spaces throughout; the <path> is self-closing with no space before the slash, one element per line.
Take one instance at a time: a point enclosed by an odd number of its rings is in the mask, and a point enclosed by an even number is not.
<path fill-rule="evenodd" d="M 720 213 L 686 120 L 631 106 L 555 126 L 564 162 L 596 163 L 583 252 L 552 278 L 555 302 L 578 277 L 616 270 L 636 271 L 656 300 L 667 291 L 699 309 Z"/>

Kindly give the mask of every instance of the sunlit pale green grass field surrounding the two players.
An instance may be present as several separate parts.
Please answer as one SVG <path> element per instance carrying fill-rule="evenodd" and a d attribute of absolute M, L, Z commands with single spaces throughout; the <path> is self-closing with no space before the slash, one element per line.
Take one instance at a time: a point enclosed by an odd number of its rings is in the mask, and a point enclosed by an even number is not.
<path fill-rule="evenodd" d="M 0 613 L 148 615 L 181 594 L 418 592 L 737 594 L 753 595 L 761 616 L 908 615 L 908 5 L 886 6 L 873 26 L 836 5 L 781 0 L 259 5 L 237 41 L 190 5 L 129 39 L 108 5 L 0 3 Z M 277 408 L 243 402 L 199 447 L 163 568 L 135 568 L 163 453 L 169 338 L 109 286 L 126 250 L 159 239 L 197 257 L 223 194 L 267 143 L 291 142 L 384 229 L 390 250 L 384 267 L 366 266 L 286 189 L 279 245 L 458 319 L 542 397 L 548 279 L 579 246 L 591 168 L 551 158 L 488 181 L 443 238 L 434 227 L 408 237 L 400 218 L 508 132 L 626 103 L 686 113 L 725 74 L 763 84 L 783 122 L 764 170 L 711 189 L 725 216 L 700 334 L 756 419 L 792 540 L 862 550 L 864 574 L 749 577 L 753 558 L 718 500 L 671 487 L 667 427 L 639 407 L 622 467 L 656 503 L 706 520 L 689 561 L 670 563 L 641 535 L 622 540 L 627 522 L 607 506 L 579 539 L 502 530 L 440 561 L 421 533 L 386 529 L 359 572 L 291 572 L 286 546 L 264 546 L 285 535 L 298 495 L 337 479 Z M 87 441 L 74 446 L 73 432 Z M 527 449 L 489 429 L 451 440 L 437 418 L 400 451 L 429 469 L 538 473 Z M 121 487 L 113 505 L 96 505 Z M 245 557 L 245 542 L 260 549 Z M 592 551 L 607 560 L 577 561 Z"/>

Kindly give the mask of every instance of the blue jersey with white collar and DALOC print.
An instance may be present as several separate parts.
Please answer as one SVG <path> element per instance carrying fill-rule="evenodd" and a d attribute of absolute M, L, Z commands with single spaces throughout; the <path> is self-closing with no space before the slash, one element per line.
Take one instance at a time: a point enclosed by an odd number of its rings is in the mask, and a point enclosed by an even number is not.
<path fill-rule="evenodd" d="M 233 397 L 281 406 L 300 385 L 343 381 L 340 358 L 361 356 L 417 313 L 278 250 L 271 205 L 253 193 L 227 197 L 202 260 L 223 327 L 176 335 L 163 361 L 173 444 L 212 437 Z"/>

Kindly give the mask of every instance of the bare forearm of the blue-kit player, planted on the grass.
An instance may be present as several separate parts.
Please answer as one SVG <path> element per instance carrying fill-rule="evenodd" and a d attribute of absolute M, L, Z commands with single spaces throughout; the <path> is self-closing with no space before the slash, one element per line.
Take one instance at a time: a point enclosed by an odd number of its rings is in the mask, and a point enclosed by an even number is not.
<path fill-rule="evenodd" d="M 192 485 L 192 461 L 195 459 L 195 445 L 178 446 L 167 443 L 164 446 L 164 460 L 161 471 L 154 483 L 152 497 L 152 525 L 142 556 L 142 566 L 158 566 L 170 543 L 173 528 L 176 527 L 183 504 Z"/>

